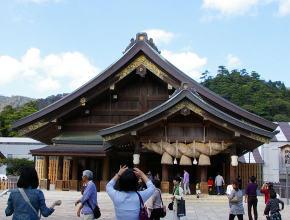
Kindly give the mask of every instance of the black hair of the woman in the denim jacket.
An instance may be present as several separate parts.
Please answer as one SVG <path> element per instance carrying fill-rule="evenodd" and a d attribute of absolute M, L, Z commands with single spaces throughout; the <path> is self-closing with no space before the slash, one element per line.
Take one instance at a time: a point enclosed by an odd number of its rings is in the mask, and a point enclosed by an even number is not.
<path fill-rule="evenodd" d="M 39 185 L 37 172 L 33 166 L 24 166 L 17 181 L 18 188 L 37 188 Z"/>

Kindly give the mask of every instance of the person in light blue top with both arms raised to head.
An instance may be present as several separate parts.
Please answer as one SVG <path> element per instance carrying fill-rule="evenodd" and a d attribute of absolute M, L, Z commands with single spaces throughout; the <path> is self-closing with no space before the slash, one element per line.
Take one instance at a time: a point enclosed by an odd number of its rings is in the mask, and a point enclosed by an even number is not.
<path fill-rule="evenodd" d="M 107 183 L 105 189 L 113 201 L 115 218 L 117 220 L 139 219 L 140 202 L 137 194 L 138 177 L 142 177 L 147 188 L 139 191 L 143 202 L 145 202 L 155 191 L 155 186 L 148 177 L 138 168 L 129 169 L 126 165 L 120 166 L 119 171 Z M 119 180 L 120 191 L 113 187 Z"/>

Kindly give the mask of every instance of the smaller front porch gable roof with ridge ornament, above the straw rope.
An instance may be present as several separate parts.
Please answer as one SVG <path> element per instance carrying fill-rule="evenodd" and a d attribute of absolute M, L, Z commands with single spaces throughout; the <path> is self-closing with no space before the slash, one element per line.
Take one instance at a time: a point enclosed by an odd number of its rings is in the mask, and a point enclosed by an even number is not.
<path fill-rule="evenodd" d="M 181 87 L 184 87 L 185 84 L 186 83 L 183 83 Z M 123 136 L 122 138 L 124 138 L 124 136 L 131 134 L 131 132 L 150 126 L 158 120 L 162 120 L 184 107 L 189 108 L 191 111 L 207 118 L 209 121 L 212 121 L 221 127 L 240 133 L 246 138 L 258 141 L 253 143 L 252 146 L 248 146 L 248 148 L 243 147 L 242 144 L 240 144 L 240 148 L 246 150 L 252 150 L 263 142 L 269 142 L 276 134 L 275 132 L 245 123 L 242 120 L 234 118 L 211 106 L 209 103 L 203 101 L 193 88 L 187 89 L 187 86 L 188 84 L 186 84 L 185 89 L 177 89 L 170 99 L 152 110 L 124 123 L 100 130 L 99 134 L 103 137 L 104 141 L 115 144 L 119 137 Z M 116 139 L 116 141 L 114 141 L 114 139 Z"/>

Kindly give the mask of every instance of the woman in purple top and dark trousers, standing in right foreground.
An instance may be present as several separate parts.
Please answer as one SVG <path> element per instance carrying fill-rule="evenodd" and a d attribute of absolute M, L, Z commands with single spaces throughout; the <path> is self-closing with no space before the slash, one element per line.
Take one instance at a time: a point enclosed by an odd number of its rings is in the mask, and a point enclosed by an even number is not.
<path fill-rule="evenodd" d="M 244 202 L 245 203 L 247 202 L 248 219 L 252 220 L 252 216 L 251 216 L 251 206 L 252 206 L 253 212 L 254 212 L 254 220 L 257 220 L 258 219 L 258 213 L 257 213 L 258 199 L 257 199 L 256 190 L 257 190 L 258 184 L 254 183 L 254 181 L 256 180 L 256 177 L 254 175 L 252 175 L 249 179 L 250 179 L 250 183 L 247 183 L 245 187 Z"/>

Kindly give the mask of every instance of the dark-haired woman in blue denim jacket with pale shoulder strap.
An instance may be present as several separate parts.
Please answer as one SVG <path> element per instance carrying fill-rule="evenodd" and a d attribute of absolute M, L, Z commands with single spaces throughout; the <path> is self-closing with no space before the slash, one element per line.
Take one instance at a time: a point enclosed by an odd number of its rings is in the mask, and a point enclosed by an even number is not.
<path fill-rule="evenodd" d="M 37 172 L 32 166 L 25 166 L 22 169 L 19 180 L 17 182 L 17 187 L 23 188 L 24 192 L 30 200 L 30 203 L 33 205 L 36 211 L 40 210 L 40 213 L 44 217 L 47 217 L 54 211 L 53 207 L 55 205 L 61 204 L 61 200 L 56 200 L 50 207 L 46 206 L 43 192 L 37 189 Z M 7 202 L 8 206 L 5 209 L 6 216 L 13 214 L 13 220 L 38 220 L 39 216 L 34 212 L 29 204 L 25 202 L 18 188 L 13 189 L 9 195 Z"/>

